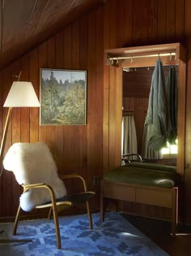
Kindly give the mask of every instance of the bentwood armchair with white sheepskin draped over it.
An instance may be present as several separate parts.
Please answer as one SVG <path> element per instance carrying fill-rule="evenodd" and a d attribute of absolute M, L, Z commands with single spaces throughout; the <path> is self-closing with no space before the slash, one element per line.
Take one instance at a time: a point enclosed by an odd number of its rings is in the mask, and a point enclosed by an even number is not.
<path fill-rule="evenodd" d="M 89 227 L 92 228 L 88 201 L 95 193 L 87 191 L 87 185 L 82 176 L 71 174 L 58 177 L 53 156 L 45 143 L 15 143 L 8 150 L 3 165 L 7 171 L 14 172 L 16 180 L 23 186 L 23 194 L 20 197 L 13 226 L 13 235 L 16 235 L 22 209 L 30 211 L 49 207 L 49 219 L 53 215 L 57 249 L 60 249 L 62 245 L 57 213 L 79 203 L 86 203 Z M 64 184 L 66 179 L 79 180 L 83 184 L 83 191 L 67 194 Z"/>

